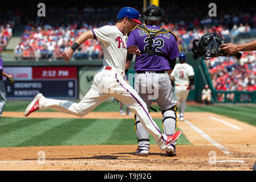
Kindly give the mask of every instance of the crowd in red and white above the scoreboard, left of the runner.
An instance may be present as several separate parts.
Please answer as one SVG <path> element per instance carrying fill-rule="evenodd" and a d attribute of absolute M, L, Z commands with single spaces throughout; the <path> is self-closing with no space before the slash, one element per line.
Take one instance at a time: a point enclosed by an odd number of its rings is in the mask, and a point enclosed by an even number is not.
<path fill-rule="evenodd" d="M 79 35 L 87 28 L 59 27 L 58 29 L 45 25 L 42 28 L 26 28 L 21 42 L 15 48 L 15 59 L 36 60 L 48 59 L 50 61 L 62 59 L 62 53 L 71 47 Z M 88 40 L 80 46 L 75 54 L 75 59 L 101 59 L 102 51 L 99 42 Z"/>

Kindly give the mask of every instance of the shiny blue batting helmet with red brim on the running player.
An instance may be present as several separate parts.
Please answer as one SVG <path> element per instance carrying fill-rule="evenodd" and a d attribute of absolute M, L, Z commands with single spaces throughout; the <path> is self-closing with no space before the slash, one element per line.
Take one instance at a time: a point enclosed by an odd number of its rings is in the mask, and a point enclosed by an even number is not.
<path fill-rule="evenodd" d="M 117 15 L 117 19 L 122 19 L 124 17 L 131 18 L 133 21 L 141 24 L 140 22 L 140 13 L 139 11 L 135 10 L 132 7 L 123 7 L 120 11 L 119 14 Z"/>

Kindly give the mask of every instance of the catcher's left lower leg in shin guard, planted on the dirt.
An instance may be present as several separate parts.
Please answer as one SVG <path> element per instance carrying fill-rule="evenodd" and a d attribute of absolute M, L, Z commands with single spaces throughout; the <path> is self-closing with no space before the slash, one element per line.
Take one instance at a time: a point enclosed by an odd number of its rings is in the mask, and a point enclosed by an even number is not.
<path fill-rule="evenodd" d="M 135 152 L 136 155 L 148 155 L 149 150 L 149 133 L 140 123 L 139 118 L 135 114 L 135 131 L 138 139 L 138 148 Z"/>

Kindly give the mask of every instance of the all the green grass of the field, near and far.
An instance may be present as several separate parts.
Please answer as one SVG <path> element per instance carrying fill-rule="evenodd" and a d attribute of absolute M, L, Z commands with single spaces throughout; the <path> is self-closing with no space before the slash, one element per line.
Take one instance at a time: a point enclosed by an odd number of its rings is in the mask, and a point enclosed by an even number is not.
<path fill-rule="evenodd" d="M 79 101 L 75 101 L 79 102 Z M 30 101 L 8 101 L 4 111 L 24 111 Z M 153 106 L 159 111 L 158 106 Z M 124 109 L 126 106 L 124 106 Z M 118 111 L 119 105 L 103 102 L 94 111 Z M 54 111 L 47 109 L 46 111 Z M 151 111 L 153 112 L 153 111 Z M 159 111 L 160 112 L 160 111 Z M 210 112 L 256 126 L 256 107 L 237 105 L 186 106 L 185 112 Z M 2 118 L 0 147 L 137 144 L 132 119 Z M 162 131 L 161 119 L 155 122 Z M 149 135 L 151 144 L 155 139 Z M 177 144 L 191 144 L 181 135 Z"/>

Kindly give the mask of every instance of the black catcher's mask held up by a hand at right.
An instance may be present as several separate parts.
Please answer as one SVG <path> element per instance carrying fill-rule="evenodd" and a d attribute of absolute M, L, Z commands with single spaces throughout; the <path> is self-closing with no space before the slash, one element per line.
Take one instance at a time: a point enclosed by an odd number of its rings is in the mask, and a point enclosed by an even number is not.
<path fill-rule="evenodd" d="M 221 32 L 214 29 L 212 33 L 207 32 L 201 36 L 200 39 L 193 40 L 193 57 L 198 59 L 211 59 L 212 57 L 218 56 L 234 56 L 240 59 L 242 56 L 241 52 L 237 52 L 234 55 L 228 55 L 226 52 L 221 50 L 221 44 L 225 44 L 225 39 L 222 38 Z"/>

